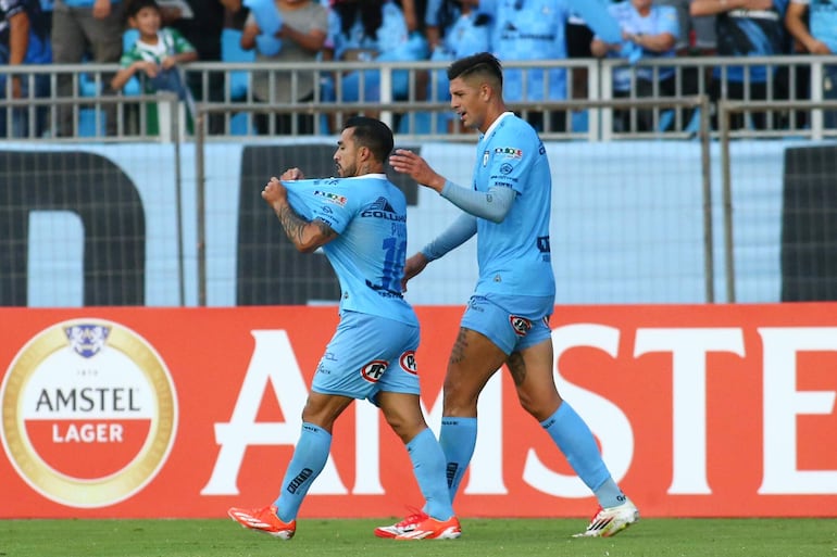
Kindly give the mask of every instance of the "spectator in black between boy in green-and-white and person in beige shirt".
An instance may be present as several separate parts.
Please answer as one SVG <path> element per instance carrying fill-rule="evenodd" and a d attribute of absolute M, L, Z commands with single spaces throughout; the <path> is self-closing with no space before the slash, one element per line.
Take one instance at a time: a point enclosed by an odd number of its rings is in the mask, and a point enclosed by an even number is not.
<path fill-rule="evenodd" d="M 198 51 L 200 62 L 221 62 L 221 36 L 228 13 L 241 10 L 241 0 L 186 0 L 190 13 L 163 9 L 163 24 L 174 27 Z M 210 72 L 204 84 L 199 72 L 187 72 L 186 80 L 198 101 L 224 102 L 224 73 Z M 222 134 L 224 117 L 209 116 L 209 132 Z"/>

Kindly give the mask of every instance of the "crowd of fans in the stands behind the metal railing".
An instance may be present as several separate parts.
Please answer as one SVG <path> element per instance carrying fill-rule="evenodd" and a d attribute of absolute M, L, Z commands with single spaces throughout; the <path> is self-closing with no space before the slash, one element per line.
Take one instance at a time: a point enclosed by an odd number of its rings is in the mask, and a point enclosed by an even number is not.
<path fill-rule="evenodd" d="M 142 27 L 138 5 L 153 25 Z M 254 52 L 257 61 L 447 61 L 479 51 L 501 61 L 617 58 L 626 64 L 614 71 L 614 97 L 665 97 L 692 92 L 694 75 L 678 76 L 675 85 L 673 68 L 636 66 L 637 61 L 837 52 L 837 0 L 0 0 L 0 64 L 120 63 L 122 71 L 104 76 L 99 93 L 112 94 L 137 77 L 146 92 L 172 88 L 198 100 L 223 101 L 221 73 L 209 79 L 187 74 L 186 84 L 160 75 L 191 60 L 222 61 L 222 33 L 230 27 L 240 31 L 240 48 Z M 135 35 L 126 42 L 128 30 Z M 787 98 L 800 81 L 765 66 L 727 66 L 723 81 L 720 72 L 708 76 L 713 100 Z M 46 75 L 0 74 L 0 100 L 72 97 L 72 77 L 59 74 L 57 90 L 50 91 Z M 292 78 L 257 72 L 250 87 L 251 98 L 264 103 L 380 99 L 379 72 L 372 63 L 325 83 L 313 72 L 297 72 Z M 585 87 L 583 69 L 508 69 L 504 96 L 511 103 L 560 101 L 586 98 Z M 822 87 L 826 99 L 837 97 L 837 66 L 826 67 Z M 796 90 L 795 97 L 810 92 Z M 444 100 L 444 73 L 410 79 L 407 72 L 396 72 L 392 98 Z M 72 106 L 59 104 L 58 112 L 58 129 L 36 122 L 35 137 L 74 132 Z M 268 125 L 266 115 L 258 117 L 257 131 L 314 129 L 311 116 L 275 118 Z M 533 111 L 526 118 L 540 131 L 569 126 L 562 111 Z M 105 119 L 108 134 L 115 132 L 115 115 Z M 826 124 L 835 119 L 829 115 Z M 30 136 L 32 124 L 23 109 L 0 110 L 0 137 Z M 632 129 L 653 125 L 640 114 Z M 774 123 L 755 118 L 750 125 Z M 616 126 L 628 123 L 616 118 Z"/>

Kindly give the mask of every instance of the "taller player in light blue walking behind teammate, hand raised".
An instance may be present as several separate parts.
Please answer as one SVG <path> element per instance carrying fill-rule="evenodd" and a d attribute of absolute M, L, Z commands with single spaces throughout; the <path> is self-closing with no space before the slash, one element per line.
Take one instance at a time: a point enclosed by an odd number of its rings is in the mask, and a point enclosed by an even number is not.
<path fill-rule="evenodd" d="M 483 52 L 448 68 L 451 107 L 479 131 L 473 189 L 450 182 L 421 156 L 399 149 L 392 167 L 434 189 L 464 213 L 407 261 L 404 280 L 477 237 L 479 278 L 448 362 L 439 443 L 447 457 L 451 499 L 471 461 L 477 434 L 477 398 L 503 364 L 521 405 L 564 453 L 600 509 L 578 536 L 611 536 L 639 519 L 601 458 L 592 432 L 566 401 L 552 375 L 549 317 L 555 300 L 550 262 L 551 173 L 546 150 L 529 124 L 502 97 L 500 62 Z M 426 509 L 424 509 L 426 511 Z M 403 535 L 425 512 L 379 527 L 379 537 Z"/>

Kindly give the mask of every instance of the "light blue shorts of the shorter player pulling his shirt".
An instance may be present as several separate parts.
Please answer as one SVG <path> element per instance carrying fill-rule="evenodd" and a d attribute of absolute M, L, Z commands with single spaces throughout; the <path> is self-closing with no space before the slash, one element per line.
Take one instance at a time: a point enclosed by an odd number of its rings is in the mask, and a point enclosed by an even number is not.
<path fill-rule="evenodd" d="M 373 403 L 380 391 L 418 394 L 418 337 L 417 326 L 346 312 L 320 360 L 311 390 Z"/>

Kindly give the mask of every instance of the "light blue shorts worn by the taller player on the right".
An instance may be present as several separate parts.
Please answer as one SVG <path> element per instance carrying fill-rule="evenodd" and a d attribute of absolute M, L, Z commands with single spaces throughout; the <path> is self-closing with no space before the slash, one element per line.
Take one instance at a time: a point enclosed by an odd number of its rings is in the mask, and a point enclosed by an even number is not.
<path fill-rule="evenodd" d="M 460 326 L 485 334 L 508 355 L 552 336 L 554 304 L 553 296 L 473 295 Z"/>

